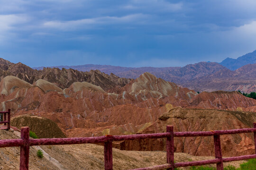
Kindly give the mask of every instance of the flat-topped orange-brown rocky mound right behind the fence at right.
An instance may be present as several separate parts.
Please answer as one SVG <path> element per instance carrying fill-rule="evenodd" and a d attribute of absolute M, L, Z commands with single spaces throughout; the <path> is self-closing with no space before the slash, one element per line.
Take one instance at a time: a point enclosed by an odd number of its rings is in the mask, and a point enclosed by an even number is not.
<path fill-rule="evenodd" d="M 152 122 L 141 133 L 161 133 L 166 131 L 166 125 L 173 125 L 174 131 L 210 131 L 237 128 L 251 128 L 256 120 L 254 112 L 183 109 L 176 107 L 165 112 L 155 122 Z M 253 134 L 236 134 L 221 136 L 222 154 L 225 156 L 253 154 Z M 131 150 L 165 150 L 165 140 L 144 139 L 124 141 L 120 144 L 124 149 Z M 206 137 L 176 137 L 175 152 L 192 155 L 214 155 L 212 136 Z M 232 149 L 228 149 L 232 148 Z M 244 149 L 242 149 L 244 148 Z"/>

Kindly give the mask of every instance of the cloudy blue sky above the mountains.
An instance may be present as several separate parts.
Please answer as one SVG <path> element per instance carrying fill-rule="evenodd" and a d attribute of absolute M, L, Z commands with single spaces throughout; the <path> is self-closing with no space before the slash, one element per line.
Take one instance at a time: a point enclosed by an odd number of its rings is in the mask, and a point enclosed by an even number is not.
<path fill-rule="evenodd" d="M 174 67 L 256 50 L 256 0 L 0 0 L 0 58 Z"/>

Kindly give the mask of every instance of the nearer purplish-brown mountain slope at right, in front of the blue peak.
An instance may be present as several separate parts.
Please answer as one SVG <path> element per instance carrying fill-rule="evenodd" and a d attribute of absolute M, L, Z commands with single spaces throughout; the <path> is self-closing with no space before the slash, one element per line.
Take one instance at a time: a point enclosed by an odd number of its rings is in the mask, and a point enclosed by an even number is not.
<path fill-rule="evenodd" d="M 223 69 L 208 76 L 194 78 L 189 82 L 183 83 L 183 86 L 195 91 L 240 90 L 245 93 L 255 92 L 255 70 L 256 64 L 248 64 L 235 71 Z"/>

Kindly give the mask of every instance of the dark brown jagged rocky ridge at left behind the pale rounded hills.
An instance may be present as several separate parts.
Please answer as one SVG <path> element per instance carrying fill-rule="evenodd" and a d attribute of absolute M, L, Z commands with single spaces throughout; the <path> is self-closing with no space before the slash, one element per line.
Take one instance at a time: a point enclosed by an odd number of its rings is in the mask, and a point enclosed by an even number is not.
<path fill-rule="evenodd" d="M 74 69 L 44 68 L 43 70 L 32 69 L 22 63 L 11 63 L 5 59 L 0 59 L 0 79 L 5 76 L 16 76 L 27 83 L 33 84 L 38 79 L 46 80 L 64 89 L 74 82 L 88 82 L 93 85 L 100 85 L 104 90 L 114 87 L 122 87 L 131 79 L 120 78 L 114 74 L 107 75 L 99 70 L 82 72 Z"/>

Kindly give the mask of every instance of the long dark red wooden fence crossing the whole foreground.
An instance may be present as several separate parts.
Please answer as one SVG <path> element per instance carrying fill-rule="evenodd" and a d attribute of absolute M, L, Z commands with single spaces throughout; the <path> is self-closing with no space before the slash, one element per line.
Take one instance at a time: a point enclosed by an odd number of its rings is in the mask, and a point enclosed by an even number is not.
<path fill-rule="evenodd" d="M 173 126 L 167 126 L 165 133 L 156 134 L 137 134 L 123 136 L 99 136 L 99 137 L 73 137 L 73 138 L 50 138 L 50 139 L 29 139 L 29 127 L 21 128 L 21 139 L 0 140 L 0 147 L 20 146 L 20 170 L 28 170 L 29 146 L 33 145 L 55 145 L 55 144 L 88 144 L 104 143 L 104 161 L 105 170 L 113 169 L 112 160 L 112 141 L 146 139 L 146 138 L 166 138 L 167 162 L 163 165 L 154 167 L 138 168 L 134 170 L 174 170 L 178 167 L 199 166 L 216 163 L 217 170 L 223 170 L 223 162 L 239 161 L 256 158 L 256 154 L 222 158 L 220 135 L 254 133 L 256 145 L 256 122 L 254 128 L 233 129 L 233 130 L 216 130 L 207 132 L 174 132 Z M 205 161 L 190 161 L 174 163 L 174 137 L 182 136 L 213 136 L 215 147 L 215 159 Z M 255 149 L 256 150 L 256 149 Z"/>

